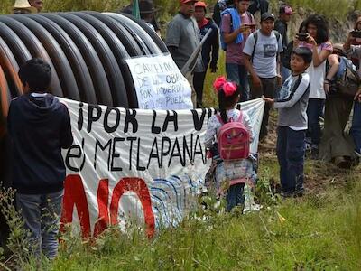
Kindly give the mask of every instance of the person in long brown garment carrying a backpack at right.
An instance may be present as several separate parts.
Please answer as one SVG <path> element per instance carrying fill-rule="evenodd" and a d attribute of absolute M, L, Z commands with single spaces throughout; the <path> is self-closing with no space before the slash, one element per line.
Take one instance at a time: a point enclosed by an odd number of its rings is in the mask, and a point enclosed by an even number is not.
<path fill-rule="evenodd" d="M 349 87 L 345 77 L 352 69 L 356 73 L 356 67 L 347 59 L 343 44 L 334 44 L 333 52 L 328 57 L 328 73 L 326 75 L 324 89 L 327 98 L 325 103 L 325 125 L 321 143 L 319 145 L 319 157 L 331 161 L 339 168 L 348 169 L 354 159 L 352 140 L 344 133 L 347 121 L 352 109 L 352 98 L 343 93 L 343 88 Z"/>

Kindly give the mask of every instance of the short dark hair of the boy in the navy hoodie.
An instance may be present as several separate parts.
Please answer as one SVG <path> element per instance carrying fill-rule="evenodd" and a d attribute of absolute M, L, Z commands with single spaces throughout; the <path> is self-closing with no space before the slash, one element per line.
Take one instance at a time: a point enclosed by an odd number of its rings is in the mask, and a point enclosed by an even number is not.
<path fill-rule="evenodd" d="M 28 83 L 30 92 L 46 92 L 51 83 L 51 66 L 41 59 L 26 61 L 18 74 L 23 86 Z"/>

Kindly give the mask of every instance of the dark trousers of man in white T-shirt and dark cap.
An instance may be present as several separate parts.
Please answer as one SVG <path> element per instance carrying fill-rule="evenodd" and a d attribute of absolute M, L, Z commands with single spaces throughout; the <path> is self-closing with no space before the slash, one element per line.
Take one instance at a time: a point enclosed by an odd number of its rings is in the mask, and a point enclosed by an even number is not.
<path fill-rule="evenodd" d="M 274 98 L 275 89 L 276 89 L 276 78 L 260 78 L 261 87 L 255 88 L 251 86 L 251 96 L 252 98 L 260 98 L 264 95 L 267 98 Z M 262 140 L 266 135 L 268 135 L 268 118 L 270 117 L 271 105 L 266 103 L 264 105 L 264 118 L 262 119 L 261 131 L 259 138 Z"/>

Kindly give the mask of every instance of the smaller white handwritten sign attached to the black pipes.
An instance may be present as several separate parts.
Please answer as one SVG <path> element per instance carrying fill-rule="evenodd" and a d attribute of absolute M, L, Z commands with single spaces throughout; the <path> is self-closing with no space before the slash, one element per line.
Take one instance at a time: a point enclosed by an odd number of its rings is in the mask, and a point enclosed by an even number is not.
<path fill-rule="evenodd" d="M 190 83 L 170 54 L 126 60 L 142 109 L 191 109 Z"/>

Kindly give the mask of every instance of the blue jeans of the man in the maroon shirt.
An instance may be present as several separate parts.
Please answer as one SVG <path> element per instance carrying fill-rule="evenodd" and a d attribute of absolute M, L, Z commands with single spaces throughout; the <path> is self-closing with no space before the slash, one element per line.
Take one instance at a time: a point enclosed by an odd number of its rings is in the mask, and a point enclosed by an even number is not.
<path fill-rule="evenodd" d="M 229 81 L 236 82 L 241 86 L 241 98 L 240 101 L 246 101 L 249 99 L 249 85 L 248 85 L 248 72 L 244 65 L 238 65 L 236 63 L 226 63 L 227 79 Z"/>

